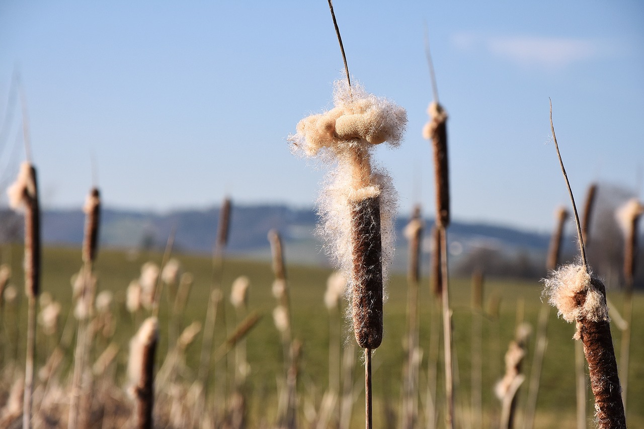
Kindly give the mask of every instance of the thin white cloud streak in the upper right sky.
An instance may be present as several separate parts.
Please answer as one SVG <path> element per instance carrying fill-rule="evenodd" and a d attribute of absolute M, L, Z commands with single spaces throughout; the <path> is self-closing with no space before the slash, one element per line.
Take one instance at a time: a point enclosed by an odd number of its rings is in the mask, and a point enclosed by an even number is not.
<path fill-rule="evenodd" d="M 549 69 L 598 59 L 611 52 L 609 44 L 598 39 L 456 33 L 451 40 L 460 50 L 485 50 L 521 66 Z"/>

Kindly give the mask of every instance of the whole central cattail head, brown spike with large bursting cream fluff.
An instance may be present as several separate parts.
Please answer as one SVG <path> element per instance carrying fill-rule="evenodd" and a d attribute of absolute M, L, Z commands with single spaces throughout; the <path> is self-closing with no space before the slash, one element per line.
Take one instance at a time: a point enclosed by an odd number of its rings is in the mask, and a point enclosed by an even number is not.
<path fill-rule="evenodd" d="M 325 250 L 349 279 L 355 338 L 377 348 L 383 336 L 383 281 L 393 256 L 396 196 L 384 169 L 372 167 L 371 151 L 399 146 L 406 111 L 346 81 L 334 84 L 334 108 L 299 121 L 289 137 L 294 153 L 334 164 L 319 200 Z"/>

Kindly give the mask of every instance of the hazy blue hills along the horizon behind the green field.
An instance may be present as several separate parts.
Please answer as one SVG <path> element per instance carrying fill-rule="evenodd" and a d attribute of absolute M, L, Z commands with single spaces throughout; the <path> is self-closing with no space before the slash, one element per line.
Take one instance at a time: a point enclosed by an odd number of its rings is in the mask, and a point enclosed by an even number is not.
<path fill-rule="evenodd" d="M 219 207 L 204 210 L 177 210 L 168 213 L 103 209 L 100 244 L 120 248 L 162 248 L 171 230 L 176 228 L 175 250 L 210 253 L 216 237 Z M 267 233 L 277 229 L 283 238 L 287 262 L 328 264 L 322 244 L 314 234 L 317 214 L 313 209 L 294 209 L 285 205 L 234 205 L 227 253 L 235 256 L 269 258 Z M 406 243 L 402 230 L 407 219 L 396 221 L 397 252 L 395 268 L 406 266 Z M 430 251 L 426 219 L 424 254 Z M 46 210 L 43 215 L 45 243 L 80 245 L 84 214 L 80 210 Z M 452 264 L 469 254 L 488 249 L 504 255 L 524 254 L 540 260 L 547 250 L 547 234 L 489 224 L 452 222 L 450 225 Z M 425 265 L 428 265 L 425 263 Z"/>

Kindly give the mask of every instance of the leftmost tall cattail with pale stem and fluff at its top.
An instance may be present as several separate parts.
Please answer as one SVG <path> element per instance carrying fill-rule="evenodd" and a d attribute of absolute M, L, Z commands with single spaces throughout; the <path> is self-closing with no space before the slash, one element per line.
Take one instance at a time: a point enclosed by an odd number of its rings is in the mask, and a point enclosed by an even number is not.
<path fill-rule="evenodd" d="M 26 130 L 26 124 L 25 130 Z M 26 137 L 26 135 L 25 135 Z M 27 139 L 25 140 L 28 141 Z M 27 296 L 27 350 L 24 370 L 23 427 L 31 428 L 35 354 L 35 301 L 40 292 L 41 226 L 36 170 L 23 162 L 17 180 L 8 189 L 13 209 L 24 209 L 24 291 Z"/>

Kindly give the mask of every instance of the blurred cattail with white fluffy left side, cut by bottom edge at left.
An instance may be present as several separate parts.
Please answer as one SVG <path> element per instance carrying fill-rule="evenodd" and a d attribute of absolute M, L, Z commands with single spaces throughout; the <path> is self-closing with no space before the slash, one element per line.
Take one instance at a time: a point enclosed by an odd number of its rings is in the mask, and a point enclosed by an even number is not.
<path fill-rule="evenodd" d="M 128 374 L 135 397 L 135 421 L 139 429 L 152 428 L 154 406 L 154 363 L 158 341 L 158 321 L 147 318 L 129 343 Z"/>

